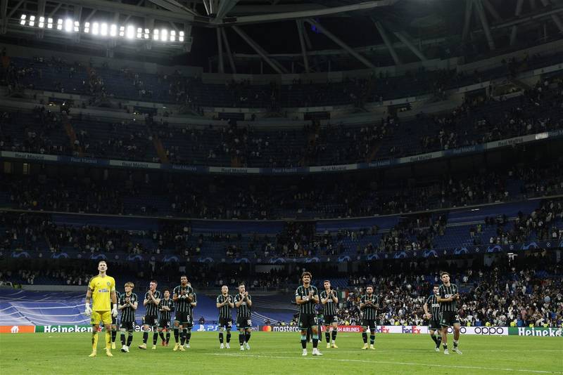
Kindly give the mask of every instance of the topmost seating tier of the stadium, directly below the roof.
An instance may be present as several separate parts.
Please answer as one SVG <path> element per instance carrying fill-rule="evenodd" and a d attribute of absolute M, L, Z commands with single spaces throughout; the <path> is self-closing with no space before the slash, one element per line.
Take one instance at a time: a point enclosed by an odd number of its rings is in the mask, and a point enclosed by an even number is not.
<path fill-rule="evenodd" d="M 509 60 L 489 70 L 469 74 L 456 70 L 409 72 L 400 77 L 379 74 L 367 79 L 346 78 L 340 82 L 313 84 L 252 85 L 249 81 L 227 84 L 203 83 L 196 77 L 135 72 L 128 67 L 84 66 L 61 58 L 4 57 L 2 81 L 12 88 L 77 93 L 94 98 L 118 98 L 191 107 L 316 107 L 361 105 L 381 100 L 441 93 L 450 88 L 510 76 L 524 70 L 554 65 L 563 53 L 531 55 L 522 51 L 519 60 Z"/>

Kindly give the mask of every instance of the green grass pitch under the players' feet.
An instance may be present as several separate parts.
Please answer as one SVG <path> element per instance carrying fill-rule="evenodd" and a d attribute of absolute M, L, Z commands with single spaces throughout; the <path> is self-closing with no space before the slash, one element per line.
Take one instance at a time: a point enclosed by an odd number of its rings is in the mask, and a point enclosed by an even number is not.
<path fill-rule="evenodd" d="M 310 355 L 310 343 L 302 357 L 299 334 L 285 332 L 255 332 L 243 352 L 237 334 L 220 350 L 217 333 L 195 332 L 190 349 L 173 352 L 139 350 L 136 333 L 131 352 L 112 358 L 103 340 L 89 358 L 90 334 L 1 334 L 0 374 L 563 374 L 560 337 L 462 336 L 463 355 L 443 355 L 426 335 L 378 334 L 376 350 L 360 350 L 360 334 L 341 333 L 338 349 L 320 344 L 322 357 Z"/>

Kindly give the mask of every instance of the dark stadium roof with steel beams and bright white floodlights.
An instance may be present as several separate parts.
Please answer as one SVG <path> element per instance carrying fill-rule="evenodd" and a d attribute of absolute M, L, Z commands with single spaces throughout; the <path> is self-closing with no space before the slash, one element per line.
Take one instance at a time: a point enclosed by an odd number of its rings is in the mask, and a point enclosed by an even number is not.
<path fill-rule="evenodd" d="M 0 0 L 0 40 L 213 72 L 326 72 L 539 44 L 561 37 L 562 12 L 561 0 Z"/>

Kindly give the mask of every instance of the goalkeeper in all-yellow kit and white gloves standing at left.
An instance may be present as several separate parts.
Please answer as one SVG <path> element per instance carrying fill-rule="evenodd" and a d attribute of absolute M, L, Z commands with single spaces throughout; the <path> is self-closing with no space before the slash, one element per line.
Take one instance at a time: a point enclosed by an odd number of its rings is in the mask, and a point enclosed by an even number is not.
<path fill-rule="evenodd" d="M 89 357 L 96 357 L 96 347 L 98 346 L 98 329 L 100 322 L 106 327 L 106 355 L 111 354 L 111 317 L 118 316 L 118 301 L 115 294 L 115 279 L 106 275 L 108 264 L 106 261 L 98 263 L 99 275 L 92 277 L 86 292 L 86 306 L 84 314 L 90 317 L 92 324 L 92 353 Z M 90 298 L 92 307 L 90 308 Z M 110 301 L 113 302 L 113 309 L 110 309 Z"/>

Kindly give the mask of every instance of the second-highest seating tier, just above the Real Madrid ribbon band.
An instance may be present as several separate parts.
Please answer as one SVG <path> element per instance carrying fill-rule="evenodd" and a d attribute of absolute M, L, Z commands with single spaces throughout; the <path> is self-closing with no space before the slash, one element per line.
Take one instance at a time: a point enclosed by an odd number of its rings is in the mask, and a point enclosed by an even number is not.
<path fill-rule="evenodd" d="M 152 117 L 112 120 L 82 115 L 80 110 L 71 110 L 70 121 L 64 121 L 61 114 L 37 107 L 4 113 L 0 149 L 196 166 L 372 162 L 562 129 L 562 88 L 563 81 L 555 77 L 507 100 L 467 99 L 448 114 L 420 114 L 412 120 L 386 117 L 346 126 L 313 122 L 301 129 L 180 127 Z"/>

